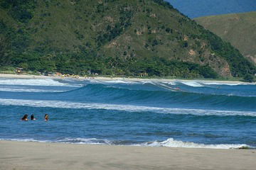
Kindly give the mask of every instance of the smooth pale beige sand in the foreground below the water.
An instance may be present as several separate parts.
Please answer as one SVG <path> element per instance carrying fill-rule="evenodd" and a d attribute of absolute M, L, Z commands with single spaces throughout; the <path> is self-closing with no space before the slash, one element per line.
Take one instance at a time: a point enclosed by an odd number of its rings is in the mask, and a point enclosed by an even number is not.
<path fill-rule="evenodd" d="M 0 141 L 1 170 L 36 169 L 246 169 L 253 149 L 186 149 Z"/>

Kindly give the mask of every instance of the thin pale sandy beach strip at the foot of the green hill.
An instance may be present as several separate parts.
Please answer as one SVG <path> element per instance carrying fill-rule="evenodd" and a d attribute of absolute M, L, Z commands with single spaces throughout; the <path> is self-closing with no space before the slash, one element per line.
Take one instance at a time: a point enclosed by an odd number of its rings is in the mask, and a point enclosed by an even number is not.
<path fill-rule="evenodd" d="M 43 76 L 43 75 L 32 75 L 32 74 L 0 74 L 0 79 L 75 79 L 75 80 L 98 80 L 98 81 L 166 81 L 166 82 L 174 82 L 174 81 L 201 81 L 206 83 L 216 83 L 216 84 L 253 84 L 256 83 L 248 83 L 244 81 L 226 81 L 226 80 L 214 80 L 214 79 L 141 79 L 141 78 L 124 78 L 124 77 L 59 77 L 59 76 Z"/>

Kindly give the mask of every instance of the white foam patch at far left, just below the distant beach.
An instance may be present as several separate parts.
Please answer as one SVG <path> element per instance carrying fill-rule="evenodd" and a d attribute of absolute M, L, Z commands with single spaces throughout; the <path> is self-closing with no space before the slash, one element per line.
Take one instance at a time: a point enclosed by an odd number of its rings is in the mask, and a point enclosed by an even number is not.
<path fill-rule="evenodd" d="M 26 86 L 74 86 L 53 79 L 0 79 L 0 84 Z"/>

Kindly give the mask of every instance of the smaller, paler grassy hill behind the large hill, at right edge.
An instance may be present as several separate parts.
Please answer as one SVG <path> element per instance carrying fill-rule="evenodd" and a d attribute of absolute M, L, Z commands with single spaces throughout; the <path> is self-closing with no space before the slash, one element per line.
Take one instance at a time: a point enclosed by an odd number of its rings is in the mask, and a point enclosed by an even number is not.
<path fill-rule="evenodd" d="M 256 64 L 256 12 L 196 18 L 206 29 L 231 42 Z"/>

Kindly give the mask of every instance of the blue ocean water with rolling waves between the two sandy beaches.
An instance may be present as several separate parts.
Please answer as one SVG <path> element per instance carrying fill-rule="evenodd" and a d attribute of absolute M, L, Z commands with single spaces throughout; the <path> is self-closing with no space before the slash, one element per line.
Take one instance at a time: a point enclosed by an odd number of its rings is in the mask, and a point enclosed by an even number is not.
<path fill-rule="evenodd" d="M 0 119 L 0 140 L 256 148 L 256 85 L 0 79 Z"/>

